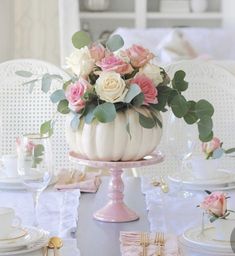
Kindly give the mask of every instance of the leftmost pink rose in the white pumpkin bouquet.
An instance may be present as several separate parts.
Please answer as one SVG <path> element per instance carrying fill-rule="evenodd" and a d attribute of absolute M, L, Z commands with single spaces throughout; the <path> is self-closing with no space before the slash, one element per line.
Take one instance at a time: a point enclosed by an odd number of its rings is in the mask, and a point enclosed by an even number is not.
<path fill-rule="evenodd" d="M 85 107 L 83 95 L 90 88 L 91 85 L 83 78 L 80 78 L 76 83 L 70 84 L 67 87 L 65 96 L 72 110 L 78 112 Z"/>

